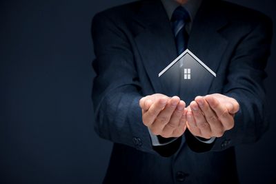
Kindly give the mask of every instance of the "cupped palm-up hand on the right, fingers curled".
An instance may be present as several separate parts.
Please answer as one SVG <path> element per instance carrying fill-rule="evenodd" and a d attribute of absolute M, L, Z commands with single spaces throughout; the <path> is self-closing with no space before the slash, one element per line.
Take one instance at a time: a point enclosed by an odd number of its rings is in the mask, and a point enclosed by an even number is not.
<path fill-rule="evenodd" d="M 234 116 L 239 103 L 223 94 L 197 96 L 190 103 L 186 114 L 188 130 L 205 139 L 221 137 L 226 130 L 234 127 Z"/>

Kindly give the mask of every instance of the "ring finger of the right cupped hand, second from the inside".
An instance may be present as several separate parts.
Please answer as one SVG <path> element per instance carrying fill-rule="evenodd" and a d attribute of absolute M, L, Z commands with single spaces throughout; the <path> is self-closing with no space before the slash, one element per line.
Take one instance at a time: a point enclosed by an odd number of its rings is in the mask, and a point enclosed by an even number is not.
<path fill-rule="evenodd" d="M 192 101 L 190 103 L 190 108 L 193 112 L 193 116 L 195 119 L 195 122 L 197 124 L 197 127 L 200 129 L 201 134 L 204 137 L 211 136 L 211 128 L 209 123 L 206 121 L 204 115 L 201 112 L 201 109 L 199 108 L 199 105 L 195 101 Z"/>

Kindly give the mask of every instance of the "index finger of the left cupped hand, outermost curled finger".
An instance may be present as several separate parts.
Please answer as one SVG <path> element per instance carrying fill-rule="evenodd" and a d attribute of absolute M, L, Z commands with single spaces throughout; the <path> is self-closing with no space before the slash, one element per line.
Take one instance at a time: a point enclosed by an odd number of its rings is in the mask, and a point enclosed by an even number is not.
<path fill-rule="evenodd" d="M 151 125 L 155 121 L 157 115 L 164 109 L 167 101 L 168 97 L 161 97 L 150 106 L 148 111 L 144 112 L 142 119 L 146 126 Z"/>

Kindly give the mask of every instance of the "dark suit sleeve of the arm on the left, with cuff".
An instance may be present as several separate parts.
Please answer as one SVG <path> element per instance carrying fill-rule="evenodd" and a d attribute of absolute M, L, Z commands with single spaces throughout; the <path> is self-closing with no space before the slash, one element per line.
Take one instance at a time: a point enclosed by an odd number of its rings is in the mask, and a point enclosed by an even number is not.
<path fill-rule="evenodd" d="M 142 122 L 141 84 L 126 34 L 103 12 L 93 18 L 91 32 L 96 57 L 92 63 L 96 73 L 92 87 L 95 131 L 114 143 L 162 156 L 172 155 L 181 139 L 154 146 Z"/>

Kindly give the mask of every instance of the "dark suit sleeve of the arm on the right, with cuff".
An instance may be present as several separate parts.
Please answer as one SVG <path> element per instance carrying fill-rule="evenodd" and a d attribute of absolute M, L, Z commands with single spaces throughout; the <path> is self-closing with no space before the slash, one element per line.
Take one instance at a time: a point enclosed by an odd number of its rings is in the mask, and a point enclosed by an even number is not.
<path fill-rule="evenodd" d="M 192 150 L 220 151 L 241 143 L 253 143 L 266 131 L 268 121 L 263 82 L 271 39 L 272 23 L 265 18 L 239 42 L 228 66 L 223 88 L 223 94 L 233 97 L 240 105 L 239 112 L 235 114 L 235 127 L 210 145 L 199 143 L 191 134 L 186 134 Z"/>

